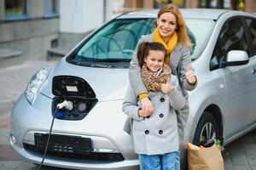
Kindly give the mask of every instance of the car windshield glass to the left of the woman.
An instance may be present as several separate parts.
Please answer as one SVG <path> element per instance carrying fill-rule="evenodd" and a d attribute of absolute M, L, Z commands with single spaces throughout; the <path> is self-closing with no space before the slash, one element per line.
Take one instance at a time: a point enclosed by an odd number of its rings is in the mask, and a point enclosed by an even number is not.
<path fill-rule="evenodd" d="M 74 59 L 108 66 L 129 62 L 140 37 L 153 29 L 154 19 L 113 20 L 85 42 Z"/>

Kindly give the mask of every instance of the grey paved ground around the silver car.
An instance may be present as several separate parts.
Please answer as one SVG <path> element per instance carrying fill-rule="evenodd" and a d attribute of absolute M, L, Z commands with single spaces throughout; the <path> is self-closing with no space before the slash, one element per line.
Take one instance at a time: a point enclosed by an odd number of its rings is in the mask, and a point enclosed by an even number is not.
<path fill-rule="evenodd" d="M 9 118 L 15 100 L 26 90 L 30 77 L 42 66 L 52 67 L 56 60 L 27 61 L 0 68 L 0 169 L 33 170 L 37 166 L 23 160 L 9 145 Z M 256 111 L 255 111 L 256 114 Z M 256 170 L 256 130 L 224 147 L 225 170 Z M 42 170 L 63 168 L 43 167 Z"/>

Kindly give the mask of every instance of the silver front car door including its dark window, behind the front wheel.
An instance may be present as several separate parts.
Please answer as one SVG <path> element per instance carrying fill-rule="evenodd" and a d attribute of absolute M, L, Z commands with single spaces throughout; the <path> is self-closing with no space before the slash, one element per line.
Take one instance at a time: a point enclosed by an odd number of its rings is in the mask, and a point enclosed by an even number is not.
<path fill-rule="evenodd" d="M 251 71 L 248 65 L 227 66 L 219 68 L 220 60 L 225 59 L 230 50 L 245 50 L 248 52 L 247 37 L 241 18 L 227 20 L 213 50 L 210 68 L 219 69 L 224 77 L 224 138 L 236 133 L 250 121 L 247 111 L 248 88 L 251 86 Z"/>

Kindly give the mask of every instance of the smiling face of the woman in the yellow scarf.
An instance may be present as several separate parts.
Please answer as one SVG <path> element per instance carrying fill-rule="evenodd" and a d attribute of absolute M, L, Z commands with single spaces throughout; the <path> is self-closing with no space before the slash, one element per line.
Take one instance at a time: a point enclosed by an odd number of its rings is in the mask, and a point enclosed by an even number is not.
<path fill-rule="evenodd" d="M 170 37 L 177 28 L 177 20 L 174 14 L 166 12 L 161 14 L 156 21 L 157 29 L 161 37 Z"/>

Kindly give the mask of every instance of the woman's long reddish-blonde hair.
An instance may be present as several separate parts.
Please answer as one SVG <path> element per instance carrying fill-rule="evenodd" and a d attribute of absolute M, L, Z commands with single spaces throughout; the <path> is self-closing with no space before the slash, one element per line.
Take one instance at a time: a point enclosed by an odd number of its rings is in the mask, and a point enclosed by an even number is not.
<path fill-rule="evenodd" d="M 173 3 L 167 4 L 165 7 L 160 8 L 158 14 L 157 14 L 157 19 L 160 18 L 161 14 L 164 13 L 172 13 L 175 15 L 176 20 L 177 20 L 177 39 L 179 42 L 183 44 L 183 46 L 187 48 L 192 48 L 192 43 L 190 42 L 189 35 L 187 33 L 187 28 L 185 25 L 185 21 L 183 19 L 183 16 L 180 12 L 180 10 L 177 8 L 176 5 Z M 156 24 L 157 26 L 157 24 Z"/>

